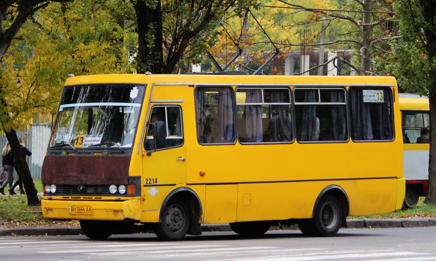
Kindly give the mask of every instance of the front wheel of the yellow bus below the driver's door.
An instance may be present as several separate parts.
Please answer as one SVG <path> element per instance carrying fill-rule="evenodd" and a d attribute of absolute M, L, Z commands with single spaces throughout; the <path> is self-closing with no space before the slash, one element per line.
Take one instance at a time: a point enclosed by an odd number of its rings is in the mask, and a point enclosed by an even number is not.
<path fill-rule="evenodd" d="M 189 229 L 191 214 L 186 202 L 170 199 L 160 212 L 160 222 L 156 224 L 154 233 L 160 240 L 182 240 Z"/>

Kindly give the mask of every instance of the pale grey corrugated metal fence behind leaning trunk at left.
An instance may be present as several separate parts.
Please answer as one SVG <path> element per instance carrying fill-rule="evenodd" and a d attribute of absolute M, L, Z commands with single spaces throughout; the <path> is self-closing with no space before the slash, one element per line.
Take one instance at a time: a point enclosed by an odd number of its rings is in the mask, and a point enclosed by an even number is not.
<path fill-rule="evenodd" d="M 32 156 L 27 157 L 27 164 L 33 178 L 41 178 L 42 162 L 47 152 L 50 130 L 51 124 L 30 124 L 29 128 L 25 131 L 17 131 L 17 137 L 24 138 L 26 147 L 32 152 Z M 4 133 L 1 133 L 1 149 L 3 149 L 6 142 L 6 136 L 4 136 Z"/>

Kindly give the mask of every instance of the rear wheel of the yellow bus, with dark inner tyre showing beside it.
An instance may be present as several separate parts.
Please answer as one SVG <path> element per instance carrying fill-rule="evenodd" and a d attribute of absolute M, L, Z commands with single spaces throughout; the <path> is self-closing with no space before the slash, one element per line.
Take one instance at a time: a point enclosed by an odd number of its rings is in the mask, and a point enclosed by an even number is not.
<path fill-rule="evenodd" d="M 301 220 L 298 227 L 307 236 L 333 237 L 341 228 L 342 212 L 339 200 L 326 195 L 315 208 L 315 218 Z"/>

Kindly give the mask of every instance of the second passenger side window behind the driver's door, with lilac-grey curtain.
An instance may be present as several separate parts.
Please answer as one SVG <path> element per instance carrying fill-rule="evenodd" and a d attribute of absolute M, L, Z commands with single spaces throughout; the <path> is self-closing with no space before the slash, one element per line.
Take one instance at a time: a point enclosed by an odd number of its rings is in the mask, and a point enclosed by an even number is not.
<path fill-rule="evenodd" d="M 293 141 L 289 88 L 237 88 L 236 106 L 239 142 Z"/>

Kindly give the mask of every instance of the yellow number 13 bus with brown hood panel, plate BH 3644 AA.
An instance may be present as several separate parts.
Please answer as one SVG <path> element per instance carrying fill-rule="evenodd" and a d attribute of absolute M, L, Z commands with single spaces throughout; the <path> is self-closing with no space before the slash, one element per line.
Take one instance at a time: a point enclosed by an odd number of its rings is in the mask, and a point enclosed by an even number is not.
<path fill-rule="evenodd" d="M 393 77 L 114 74 L 65 82 L 42 167 L 44 217 L 162 240 L 229 223 L 334 236 L 402 207 Z"/>

